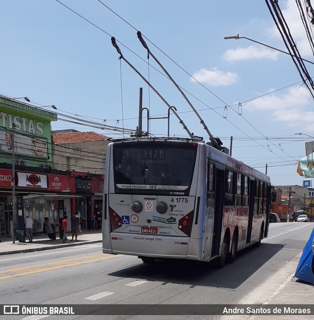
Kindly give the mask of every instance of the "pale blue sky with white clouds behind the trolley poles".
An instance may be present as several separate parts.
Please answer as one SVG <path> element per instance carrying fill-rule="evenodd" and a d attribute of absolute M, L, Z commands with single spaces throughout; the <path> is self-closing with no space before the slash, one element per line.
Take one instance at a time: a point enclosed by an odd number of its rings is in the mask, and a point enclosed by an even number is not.
<path fill-rule="evenodd" d="M 83 123 L 106 120 L 108 126 L 135 129 L 142 87 L 150 116 L 166 116 L 167 106 L 119 60 L 111 45 L 114 36 L 124 57 L 177 108 L 189 131 L 208 141 L 199 119 L 152 57 L 148 64 L 137 29 L 211 134 L 228 148 L 233 136 L 233 157 L 263 172 L 267 163 L 275 186 L 302 185 L 297 160 L 305 156 L 305 142 L 314 139 L 294 133 L 314 136 L 314 110 L 291 57 L 246 39 L 224 39 L 239 34 L 287 51 L 265 1 L 102 0 L 125 21 L 98 0 L 60 2 L 103 31 L 56 0 L 2 0 L 1 94 L 27 96 L 35 106 L 55 105 Z M 302 57 L 314 61 L 295 1 L 279 3 Z M 306 67 L 312 75 L 313 65 Z M 121 136 L 64 121 L 52 128 Z M 167 120 L 151 120 L 150 131 L 165 136 Z M 187 134 L 174 115 L 170 134 Z"/>

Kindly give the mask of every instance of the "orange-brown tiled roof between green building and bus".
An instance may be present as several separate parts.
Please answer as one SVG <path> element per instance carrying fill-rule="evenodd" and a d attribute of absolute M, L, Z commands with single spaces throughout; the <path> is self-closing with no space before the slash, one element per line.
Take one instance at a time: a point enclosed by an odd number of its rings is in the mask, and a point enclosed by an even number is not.
<path fill-rule="evenodd" d="M 108 137 L 104 134 L 96 133 L 93 131 L 73 133 L 52 133 L 52 140 L 54 144 L 101 141 L 107 139 Z"/>

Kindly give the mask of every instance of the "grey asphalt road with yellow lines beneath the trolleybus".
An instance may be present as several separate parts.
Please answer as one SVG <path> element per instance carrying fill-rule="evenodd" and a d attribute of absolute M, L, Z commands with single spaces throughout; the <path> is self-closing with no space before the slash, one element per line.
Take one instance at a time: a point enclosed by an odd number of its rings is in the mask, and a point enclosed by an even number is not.
<path fill-rule="evenodd" d="M 156 262 L 106 255 L 102 244 L 0 257 L 1 304 L 235 304 L 302 252 L 313 223 L 272 223 L 259 248 L 247 248 L 223 269 L 206 263 Z M 278 278 L 280 285 L 282 279 Z M 98 305 L 98 306 L 97 306 Z M 131 306 L 130 306 L 131 308 Z M 47 316 L 2 316 L 39 320 Z M 104 319 L 66 316 L 64 319 Z M 105 319 L 157 319 L 106 316 Z M 216 319 L 162 316 L 162 319 Z M 49 320 L 59 319 L 49 316 Z M 160 319 L 160 317 L 159 317 Z"/>

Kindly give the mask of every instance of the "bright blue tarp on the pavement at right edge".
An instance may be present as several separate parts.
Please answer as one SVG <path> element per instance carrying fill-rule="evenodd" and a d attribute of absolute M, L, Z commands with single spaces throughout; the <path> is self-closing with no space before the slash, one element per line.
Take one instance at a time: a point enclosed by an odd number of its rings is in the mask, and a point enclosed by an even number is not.
<path fill-rule="evenodd" d="M 296 267 L 294 276 L 300 280 L 314 284 L 314 258 L 312 245 L 314 242 L 314 229 L 308 240 L 307 244 L 303 249 L 302 256 L 299 260 L 298 266 Z"/>

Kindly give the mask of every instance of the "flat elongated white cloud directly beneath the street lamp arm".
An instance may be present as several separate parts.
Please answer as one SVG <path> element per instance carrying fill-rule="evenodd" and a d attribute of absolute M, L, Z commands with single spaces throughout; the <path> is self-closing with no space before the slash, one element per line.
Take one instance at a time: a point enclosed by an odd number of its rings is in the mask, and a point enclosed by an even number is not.
<path fill-rule="evenodd" d="M 249 60 L 249 59 L 270 59 L 277 60 L 278 52 L 265 48 L 249 46 L 247 48 L 238 47 L 237 49 L 228 49 L 223 58 L 227 61 Z"/>

